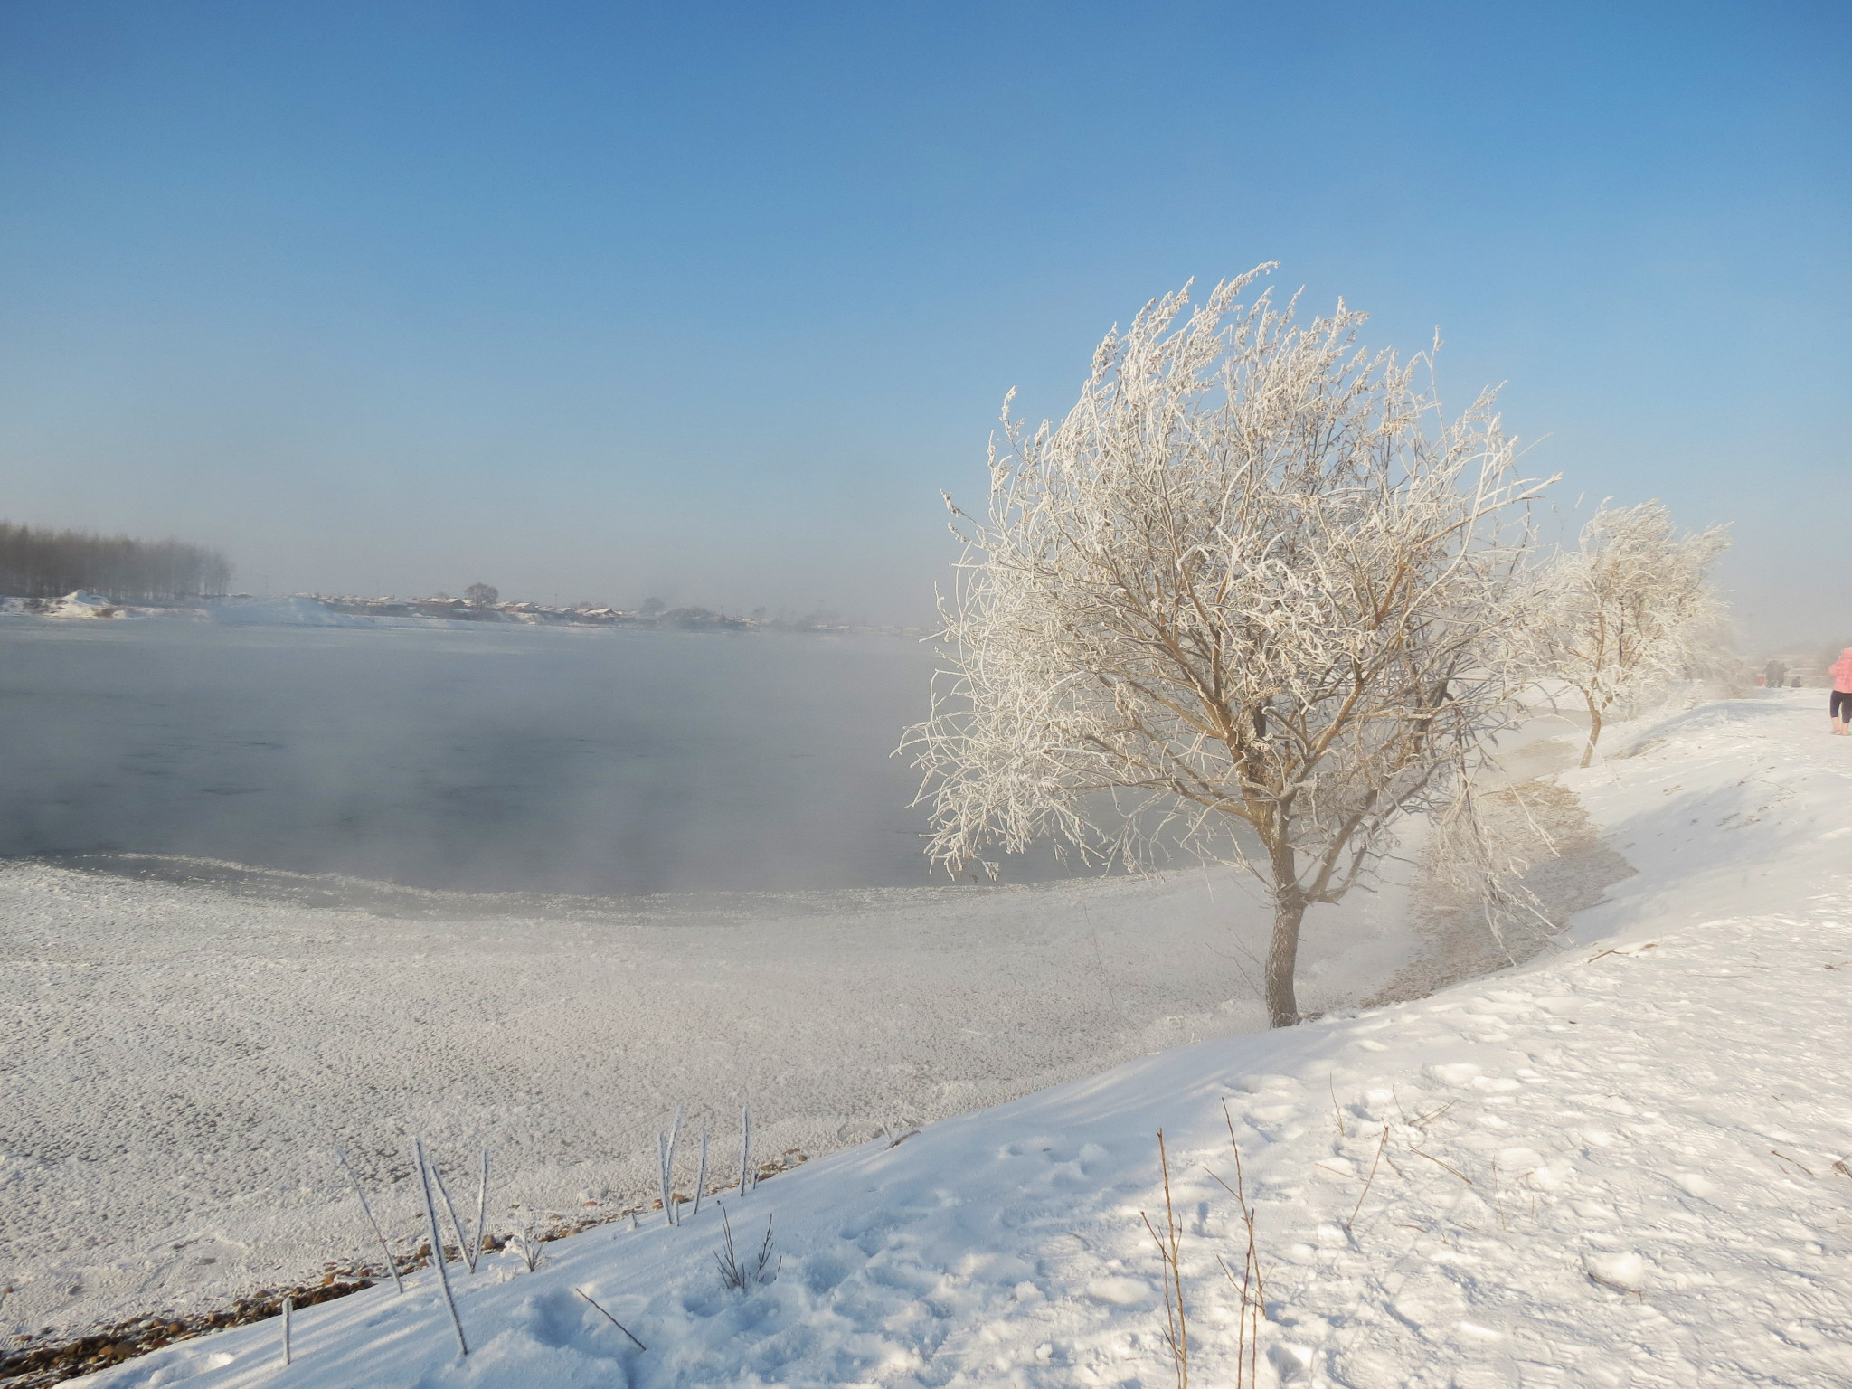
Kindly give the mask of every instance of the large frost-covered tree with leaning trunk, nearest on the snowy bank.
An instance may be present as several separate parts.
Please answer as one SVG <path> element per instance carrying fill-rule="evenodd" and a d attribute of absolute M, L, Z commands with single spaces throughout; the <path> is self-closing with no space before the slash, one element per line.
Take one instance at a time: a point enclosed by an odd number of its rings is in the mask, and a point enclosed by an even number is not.
<path fill-rule="evenodd" d="M 1285 1026 L 1306 907 L 1367 882 L 1400 817 L 1472 822 L 1535 489 L 1491 393 L 1443 419 L 1430 361 L 1356 346 L 1363 315 L 1239 304 L 1270 269 L 1182 324 L 1187 287 L 1146 306 L 1059 426 L 1006 400 L 987 519 L 952 507 L 952 669 L 904 746 L 952 870 L 1043 835 L 1252 870 Z"/>

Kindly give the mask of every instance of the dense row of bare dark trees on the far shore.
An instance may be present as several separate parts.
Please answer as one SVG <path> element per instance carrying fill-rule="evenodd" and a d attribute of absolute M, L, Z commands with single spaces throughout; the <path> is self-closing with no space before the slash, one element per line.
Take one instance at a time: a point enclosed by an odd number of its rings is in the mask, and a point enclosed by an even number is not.
<path fill-rule="evenodd" d="M 230 587 L 230 561 L 204 544 L 0 520 L 0 593 L 9 596 L 57 598 L 89 589 L 133 604 L 219 598 Z"/>

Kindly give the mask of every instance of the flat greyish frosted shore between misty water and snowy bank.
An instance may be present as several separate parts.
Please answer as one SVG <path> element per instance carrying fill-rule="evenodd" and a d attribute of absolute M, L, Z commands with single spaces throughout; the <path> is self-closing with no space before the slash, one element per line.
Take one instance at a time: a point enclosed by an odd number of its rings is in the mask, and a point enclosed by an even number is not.
<path fill-rule="evenodd" d="M 370 1256 L 337 1146 L 409 1250 L 420 1133 L 452 1167 L 487 1145 L 498 1211 L 609 1215 L 654 1195 L 678 1104 L 737 1169 L 741 1104 L 761 1158 L 815 1156 L 1263 1026 L 1243 970 L 1265 913 L 1200 872 L 556 917 L 393 902 L 439 919 L 0 865 L 0 1315 L 194 1309 Z M 1315 919 L 1306 1004 L 1356 1002 L 1417 945 L 1393 895 Z"/>

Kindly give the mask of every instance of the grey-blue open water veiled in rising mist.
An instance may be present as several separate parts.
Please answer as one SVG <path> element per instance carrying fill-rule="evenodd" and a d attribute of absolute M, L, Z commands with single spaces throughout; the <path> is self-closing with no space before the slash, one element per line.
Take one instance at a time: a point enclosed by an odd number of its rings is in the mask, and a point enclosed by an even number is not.
<path fill-rule="evenodd" d="M 0 854 L 476 893 L 945 883 L 891 756 L 932 670 L 872 635 L 7 624 Z"/>

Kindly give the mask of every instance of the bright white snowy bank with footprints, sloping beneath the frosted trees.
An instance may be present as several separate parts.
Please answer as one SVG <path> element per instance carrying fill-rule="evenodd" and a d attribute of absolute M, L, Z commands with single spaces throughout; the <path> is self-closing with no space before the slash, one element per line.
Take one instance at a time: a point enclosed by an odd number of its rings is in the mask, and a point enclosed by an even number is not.
<path fill-rule="evenodd" d="M 532 1274 L 454 1265 L 469 1358 L 426 1270 L 404 1296 L 300 1313 L 289 1369 L 270 1320 L 94 1382 L 1170 1383 L 1141 1222 L 1161 1220 L 1161 1126 L 1191 1376 L 1232 1385 L 1239 1293 L 1217 1256 L 1239 1272 L 1243 1237 L 1211 1180 L 1235 1180 L 1226 1104 L 1258 1206 L 1263 1385 L 1845 1385 L 1852 743 L 1817 706 L 1706 706 L 1617 730 L 1609 750 L 1633 756 L 1565 772 L 1639 869 L 1569 948 L 811 1161 L 732 1202 L 743 1246 L 774 1232 L 776 1278 L 745 1295 L 720 1285 L 709 1208 L 548 1245 Z M 1020 996 L 1048 991 L 1037 970 L 1061 950 L 1020 961 Z M 869 1067 L 889 1007 L 863 1028 Z M 587 1078 L 607 1070 L 587 1054 Z"/>

